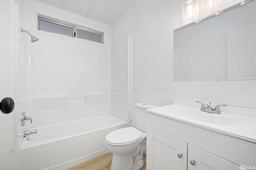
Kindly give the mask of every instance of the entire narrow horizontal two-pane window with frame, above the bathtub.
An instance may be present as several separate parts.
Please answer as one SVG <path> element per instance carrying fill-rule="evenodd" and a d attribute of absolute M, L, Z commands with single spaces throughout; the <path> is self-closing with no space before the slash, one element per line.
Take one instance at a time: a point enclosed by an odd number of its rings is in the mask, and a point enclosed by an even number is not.
<path fill-rule="evenodd" d="M 103 32 L 46 16 L 38 15 L 37 29 L 103 44 Z"/>

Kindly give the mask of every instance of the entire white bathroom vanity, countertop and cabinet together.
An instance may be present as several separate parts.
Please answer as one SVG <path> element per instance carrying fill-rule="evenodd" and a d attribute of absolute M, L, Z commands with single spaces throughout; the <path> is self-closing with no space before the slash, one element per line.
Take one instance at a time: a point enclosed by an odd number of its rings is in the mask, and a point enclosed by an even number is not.
<path fill-rule="evenodd" d="M 177 99 L 148 109 L 147 170 L 256 168 L 256 109 L 220 111 L 207 113 L 196 102 Z"/>

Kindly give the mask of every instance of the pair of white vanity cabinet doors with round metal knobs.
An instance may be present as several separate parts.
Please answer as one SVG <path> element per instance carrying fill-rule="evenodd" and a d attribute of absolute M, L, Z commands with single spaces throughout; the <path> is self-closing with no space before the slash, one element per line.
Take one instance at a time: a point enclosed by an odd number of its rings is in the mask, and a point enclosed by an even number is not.
<path fill-rule="evenodd" d="M 240 166 L 147 128 L 147 170 L 239 170 Z"/>

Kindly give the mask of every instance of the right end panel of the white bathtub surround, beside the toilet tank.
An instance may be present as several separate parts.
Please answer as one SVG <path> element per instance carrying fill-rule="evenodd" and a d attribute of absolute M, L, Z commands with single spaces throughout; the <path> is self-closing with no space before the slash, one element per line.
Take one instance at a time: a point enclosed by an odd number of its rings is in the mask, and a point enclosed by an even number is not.
<path fill-rule="evenodd" d="M 120 39 L 111 48 L 111 113 L 131 120 L 132 105 L 132 35 Z"/>

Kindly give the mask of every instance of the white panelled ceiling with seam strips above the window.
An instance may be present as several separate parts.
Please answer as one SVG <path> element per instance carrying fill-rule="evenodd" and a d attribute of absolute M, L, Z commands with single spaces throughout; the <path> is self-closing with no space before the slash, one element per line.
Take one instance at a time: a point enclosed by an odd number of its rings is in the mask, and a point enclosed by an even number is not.
<path fill-rule="evenodd" d="M 112 25 L 138 0 L 36 0 L 92 20 Z"/>

